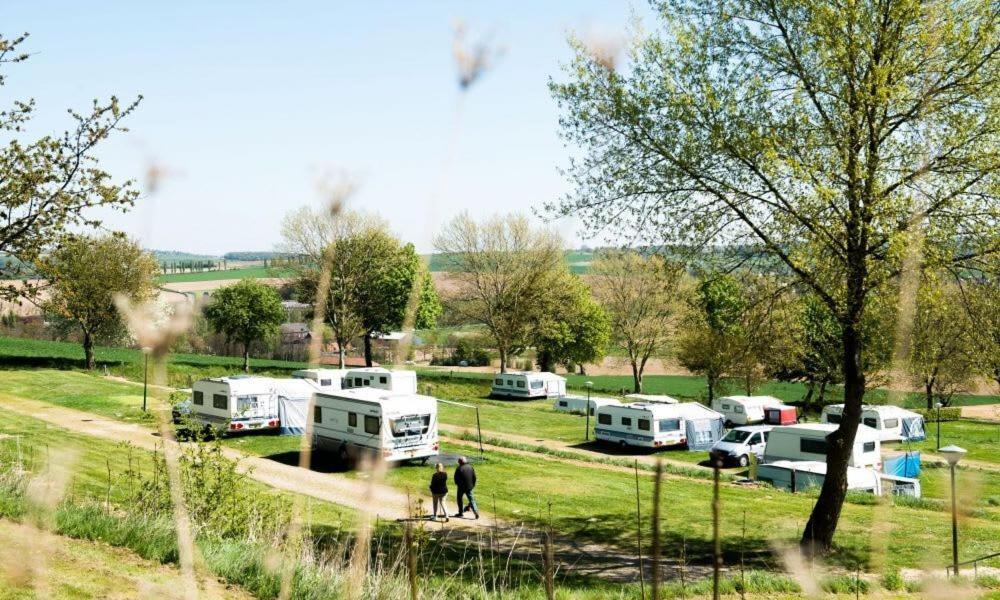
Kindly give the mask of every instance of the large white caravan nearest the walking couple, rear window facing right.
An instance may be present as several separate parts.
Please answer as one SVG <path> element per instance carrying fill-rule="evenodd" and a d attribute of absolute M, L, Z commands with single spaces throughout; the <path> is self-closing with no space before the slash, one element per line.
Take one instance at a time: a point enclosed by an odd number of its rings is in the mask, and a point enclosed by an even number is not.
<path fill-rule="evenodd" d="M 426 462 L 438 453 L 437 400 L 371 387 L 318 392 L 313 442 L 344 461 L 370 452 Z"/>

